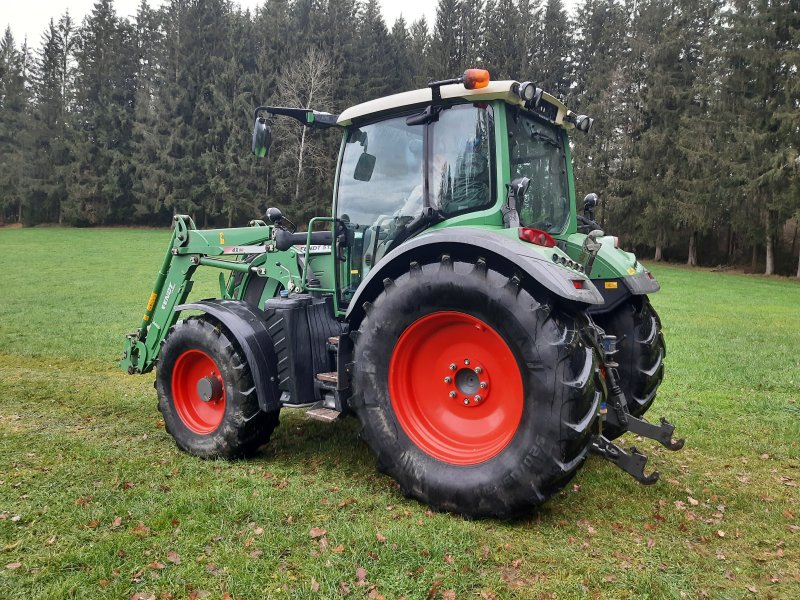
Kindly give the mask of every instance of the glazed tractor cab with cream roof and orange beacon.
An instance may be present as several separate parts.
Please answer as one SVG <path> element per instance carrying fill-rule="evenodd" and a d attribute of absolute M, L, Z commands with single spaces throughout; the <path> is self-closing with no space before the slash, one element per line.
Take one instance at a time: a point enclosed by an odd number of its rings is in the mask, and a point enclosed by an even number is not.
<path fill-rule="evenodd" d="M 515 223 L 574 232 L 565 129 L 578 120 L 588 131 L 590 119 L 532 83 L 490 82 L 478 69 L 342 113 L 334 192 L 340 306 L 388 252 L 424 230 L 507 228 L 508 182 L 525 182 Z"/>

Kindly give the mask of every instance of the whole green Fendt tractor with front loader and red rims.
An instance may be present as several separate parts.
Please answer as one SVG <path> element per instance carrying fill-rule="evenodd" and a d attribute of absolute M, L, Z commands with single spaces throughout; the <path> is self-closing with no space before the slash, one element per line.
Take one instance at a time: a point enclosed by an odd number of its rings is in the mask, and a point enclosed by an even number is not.
<path fill-rule="evenodd" d="M 340 115 L 259 107 L 341 134 L 331 216 L 174 229 L 120 366 L 157 367 L 177 445 L 207 458 L 265 444 L 281 410 L 357 416 L 378 468 L 437 510 L 509 517 L 541 504 L 589 452 L 642 483 L 626 431 L 677 450 L 641 417 L 663 377 L 659 284 L 576 210 L 576 115 L 531 82 L 486 71 Z M 198 267 L 219 297 L 186 303 Z M 190 316 L 181 317 L 183 311 Z"/>

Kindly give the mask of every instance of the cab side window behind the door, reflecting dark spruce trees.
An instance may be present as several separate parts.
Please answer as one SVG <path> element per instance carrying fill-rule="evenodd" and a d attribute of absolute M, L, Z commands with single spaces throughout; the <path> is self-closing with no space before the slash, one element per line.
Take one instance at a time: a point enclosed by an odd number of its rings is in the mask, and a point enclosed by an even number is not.
<path fill-rule="evenodd" d="M 433 125 L 430 164 L 431 204 L 451 216 L 493 203 L 490 106 L 454 106 Z"/>

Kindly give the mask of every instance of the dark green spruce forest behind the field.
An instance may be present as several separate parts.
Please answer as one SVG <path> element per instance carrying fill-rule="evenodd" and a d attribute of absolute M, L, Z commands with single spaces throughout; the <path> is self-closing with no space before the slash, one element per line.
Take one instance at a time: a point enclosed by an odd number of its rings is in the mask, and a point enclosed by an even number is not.
<path fill-rule="evenodd" d="M 261 104 L 340 112 L 467 67 L 531 80 L 595 118 L 577 198 L 645 259 L 800 277 L 800 0 L 99 0 L 0 40 L 0 223 L 241 226 L 330 213 L 340 137 Z M 305 133 L 304 139 L 302 139 Z M 301 143 L 302 141 L 302 143 Z"/>

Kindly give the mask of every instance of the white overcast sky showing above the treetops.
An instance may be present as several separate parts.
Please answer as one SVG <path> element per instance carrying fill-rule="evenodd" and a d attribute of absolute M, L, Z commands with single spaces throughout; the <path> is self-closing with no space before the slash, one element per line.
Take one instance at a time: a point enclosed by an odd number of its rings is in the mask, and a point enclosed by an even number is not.
<path fill-rule="evenodd" d="M 0 0 L 0 27 L 11 26 L 11 32 L 17 43 L 22 43 L 28 36 L 30 46 L 37 48 L 42 32 L 52 17 L 55 21 L 69 9 L 69 14 L 76 23 L 83 21 L 96 0 Z M 169 0 L 149 0 L 151 7 L 155 8 L 166 4 Z M 136 15 L 140 0 L 115 0 L 114 6 L 117 14 L 125 17 Z M 264 0 L 234 0 L 242 8 L 255 11 Z M 383 18 L 391 29 L 395 19 L 402 13 L 408 23 L 419 19 L 422 15 L 432 24 L 436 16 L 436 0 L 381 0 Z"/>

